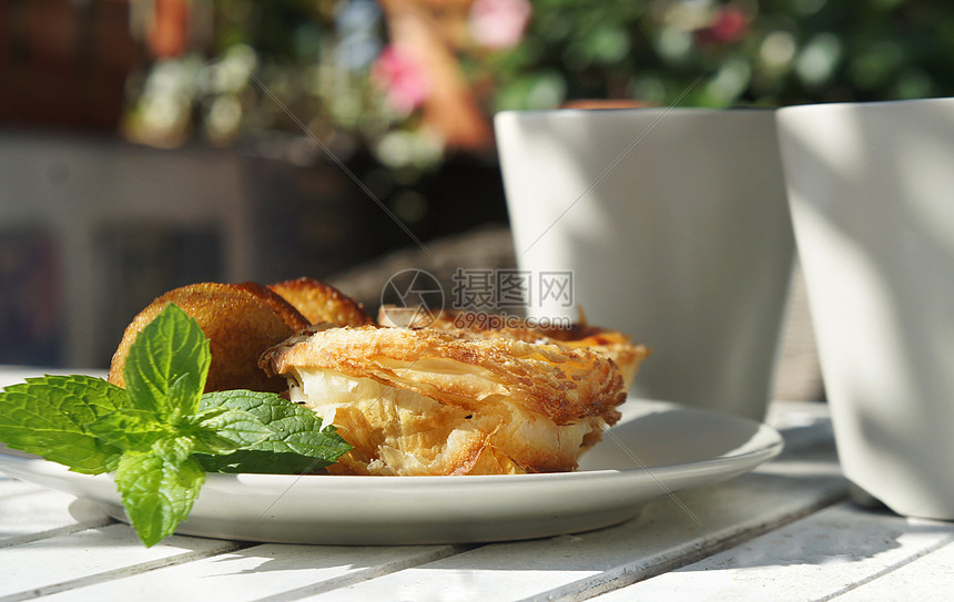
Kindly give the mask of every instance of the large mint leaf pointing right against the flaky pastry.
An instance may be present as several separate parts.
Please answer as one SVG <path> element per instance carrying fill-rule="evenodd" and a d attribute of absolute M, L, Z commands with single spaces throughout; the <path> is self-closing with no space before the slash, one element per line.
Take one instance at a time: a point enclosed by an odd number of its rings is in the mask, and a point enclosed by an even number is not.
<path fill-rule="evenodd" d="M 334 428 L 322 430 L 322 420 L 315 412 L 275 394 L 209 392 L 202 396 L 200 407 L 250 412 L 273 431 L 234 453 L 197 456 L 209 471 L 301 475 L 333 463 L 351 449 Z"/>

